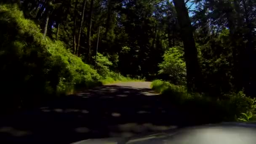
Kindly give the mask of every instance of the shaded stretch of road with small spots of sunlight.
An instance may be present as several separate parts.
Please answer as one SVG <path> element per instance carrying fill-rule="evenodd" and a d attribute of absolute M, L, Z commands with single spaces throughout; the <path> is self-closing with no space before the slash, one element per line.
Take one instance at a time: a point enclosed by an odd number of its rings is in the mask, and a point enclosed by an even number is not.
<path fill-rule="evenodd" d="M 129 137 L 184 125 L 177 109 L 147 88 L 107 85 L 44 107 L 3 118 L 0 143 L 68 144 L 83 139 Z"/>

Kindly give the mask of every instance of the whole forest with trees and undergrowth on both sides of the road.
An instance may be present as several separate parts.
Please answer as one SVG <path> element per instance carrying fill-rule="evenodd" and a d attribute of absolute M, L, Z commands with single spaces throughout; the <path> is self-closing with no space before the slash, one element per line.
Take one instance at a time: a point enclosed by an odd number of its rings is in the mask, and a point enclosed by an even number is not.
<path fill-rule="evenodd" d="M 2 0 L 0 105 L 154 80 L 170 103 L 247 121 L 256 110 L 255 11 L 256 0 Z"/>

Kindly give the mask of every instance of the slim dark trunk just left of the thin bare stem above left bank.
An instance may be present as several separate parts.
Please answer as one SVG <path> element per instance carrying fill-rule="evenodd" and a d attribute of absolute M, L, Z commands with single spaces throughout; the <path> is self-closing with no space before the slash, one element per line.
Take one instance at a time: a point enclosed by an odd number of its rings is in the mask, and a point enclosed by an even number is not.
<path fill-rule="evenodd" d="M 92 23 L 92 14 L 93 14 L 93 2 L 94 0 L 91 0 L 89 19 L 88 19 L 89 25 L 87 30 L 88 62 L 91 61 L 91 23 Z"/>

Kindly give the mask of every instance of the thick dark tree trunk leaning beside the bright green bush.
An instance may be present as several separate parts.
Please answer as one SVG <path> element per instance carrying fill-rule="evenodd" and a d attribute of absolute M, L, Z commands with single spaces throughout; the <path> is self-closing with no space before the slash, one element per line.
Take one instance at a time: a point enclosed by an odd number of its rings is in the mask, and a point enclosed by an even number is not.
<path fill-rule="evenodd" d="M 184 44 L 184 57 L 187 68 L 187 87 L 190 91 L 198 91 L 202 87 L 201 70 L 197 58 L 197 48 L 192 31 L 189 13 L 184 0 L 173 0 L 179 25 L 181 28 L 181 37 Z"/>

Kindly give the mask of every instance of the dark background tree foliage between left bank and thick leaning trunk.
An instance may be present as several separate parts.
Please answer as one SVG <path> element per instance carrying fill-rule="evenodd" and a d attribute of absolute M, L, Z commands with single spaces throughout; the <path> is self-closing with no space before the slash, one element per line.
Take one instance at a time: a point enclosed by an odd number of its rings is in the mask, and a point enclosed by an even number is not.
<path fill-rule="evenodd" d="M 166 0 L 94 0 L 93 5 L 88 2 L 85 6 L 83 23 L 83 0 L 51 2 L 49 5 L 40 0 L 26 0 L 24 3 L 16 1 L 25 17 L 33 19 L 41 29 L 45 28 L 46 17 L 50 15 L 46 35 L 61 40 L 72 53 L 76 51 L 80 37 L 77 55 L 83 57 L 87 64 L 94 65 L 94 59 L 90 58 L 96 53 L 98 30 L 101 27 L 99 51 L 112 62 L 109 69 L 122 75 L 153 79 L 152 75 L 157 75 L 159 70 L 158 63 L 162 61 L 164 49 L 172 45 L 171 39 L 175 39 L 176 44 L 181 42 L 178 35 L 172 34 L 172 30 L 177 28 L 177 24 L 173 25 L 176 14 L 172 3 Z M 51 10 L 50 14 L 48 10 Z M 90 30 L 88 26 L 91 19 L 93 24 Z"/>

